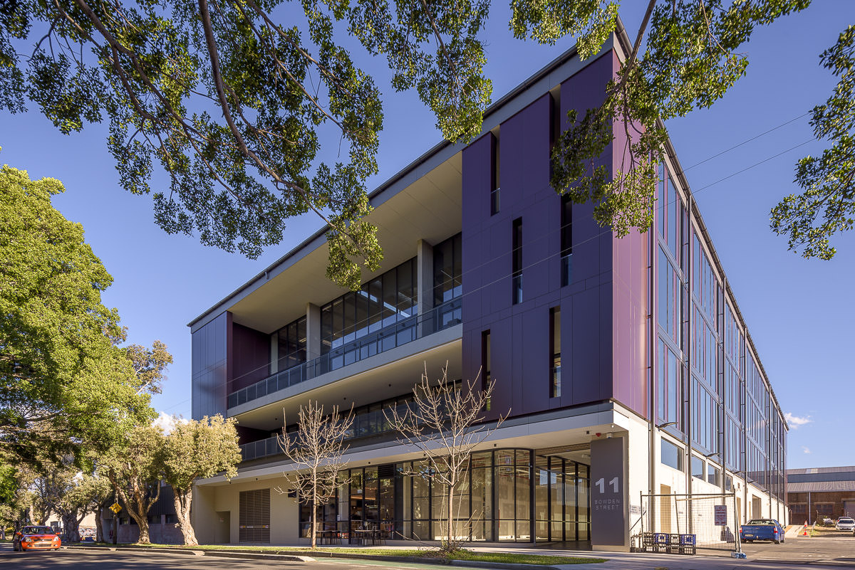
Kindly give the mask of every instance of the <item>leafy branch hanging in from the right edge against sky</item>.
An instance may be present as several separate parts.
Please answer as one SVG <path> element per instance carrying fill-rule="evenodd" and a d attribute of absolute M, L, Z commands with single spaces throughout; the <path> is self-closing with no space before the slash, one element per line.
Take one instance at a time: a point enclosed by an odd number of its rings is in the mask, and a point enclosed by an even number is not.
<path fill-rule="evenodd" d="M 831 259 L 836 250 L 828 238 L 855 225 L 855 26 L 820 61 L 840 82 L 828 101 L 813 108 L 811 126 L 817 140 L 833 144 L 822 156 L 799 160 L 795 183 L 805 191 L 772 208 L 771 227 L 805 258 Z"/>

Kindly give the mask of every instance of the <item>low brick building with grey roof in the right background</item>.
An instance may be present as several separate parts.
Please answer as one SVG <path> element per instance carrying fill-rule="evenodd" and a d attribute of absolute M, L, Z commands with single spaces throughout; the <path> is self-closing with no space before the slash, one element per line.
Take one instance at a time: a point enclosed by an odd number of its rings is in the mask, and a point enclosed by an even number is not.
<path fill-rule="evenodd" d="M 796 524 L 855 517 L 855 466 L 787 469 L 787 507 Z"/>

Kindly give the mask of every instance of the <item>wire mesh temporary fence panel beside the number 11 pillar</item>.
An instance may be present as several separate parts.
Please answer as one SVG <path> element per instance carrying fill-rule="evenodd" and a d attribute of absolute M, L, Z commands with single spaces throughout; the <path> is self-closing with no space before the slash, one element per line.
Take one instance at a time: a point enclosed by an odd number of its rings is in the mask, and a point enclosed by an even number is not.
<path fill-rule="evenodd" d="M 636 550 L 669 554 L 739 552 L 737 520 L 733 493 L 642 494 L 633 545 Z"/>

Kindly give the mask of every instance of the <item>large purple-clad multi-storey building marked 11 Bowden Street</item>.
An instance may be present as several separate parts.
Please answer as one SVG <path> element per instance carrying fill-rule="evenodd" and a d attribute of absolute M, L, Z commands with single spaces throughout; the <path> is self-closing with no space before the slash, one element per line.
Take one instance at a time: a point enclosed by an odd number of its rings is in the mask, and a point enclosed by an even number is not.
<path fill-rule="evenodd" d="M 570 49 L 487 109 L 481 137 L 374 189 L 385 258 L 359 291 L 324 277 L 321 230 L 190 323 L 193 416 L 236 417 L 244 453 L 237 478 L 198 482 L 200 540 L 304 536 L 276 437 L 310 400 L 357 417 L 324 527 L 439 538 L 446 490 L 404 474 L 422 456 L 384 410 L 446 363 L 495 381 L 487 423 L 510 410 L 460 490 L 472 540 L 628 549 L 657 509 L 642 495 L 689 492 L 786 521 L 787 424 L 673 148 L 643 234 L 617 239 L 550 187 L 568 111 L 598 105 L 627 53 L 621 36 L 590 61 Z M 598 166 L 619 166 L 623 132 Z"/>

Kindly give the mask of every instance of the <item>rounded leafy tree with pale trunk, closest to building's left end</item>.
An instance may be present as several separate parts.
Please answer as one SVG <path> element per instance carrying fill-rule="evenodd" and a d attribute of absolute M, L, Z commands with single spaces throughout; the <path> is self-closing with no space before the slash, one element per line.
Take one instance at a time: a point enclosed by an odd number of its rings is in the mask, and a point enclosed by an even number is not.
<path fill-rule="evenodd" d="M 190 521 L 193 480 L 224 472 L 226 479 L 238 474 L 240 447 L 234 418 L 205 416 L 198 422 L 175 422 L 163 446 L 163 479 L 172 486 L 175 514 L 184 544 L 198 544 Z"/>

